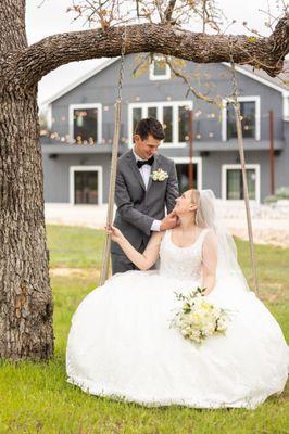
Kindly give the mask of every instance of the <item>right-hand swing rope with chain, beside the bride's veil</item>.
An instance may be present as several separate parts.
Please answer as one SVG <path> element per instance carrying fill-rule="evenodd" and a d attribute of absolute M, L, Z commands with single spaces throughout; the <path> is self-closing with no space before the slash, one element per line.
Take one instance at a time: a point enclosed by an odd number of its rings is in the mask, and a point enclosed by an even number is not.
<path fill-rule="evenodd" d="M 257 281 L 257 271 L 256 271 L 256 260 L 254 254 L 254 240 L 253 240 L 253 230 L 252 230 L 252 218 L 249 203 L 249 192 L 248 192 L 248 182 L 247 182 L 247 169 L 246 169 L 246 161 L 244 161 L 244 152 L 243 152 L 243 137 L 242 137 L 242 127 L 241 127 L 241 113 L 240 113 L 240 104 L 238 102 L 238 86 L 237 86 L 237 77 L 235 69 L 235 62 L 233 58 L 233 41 L 229 41 L 229 50 L 230 50 L 230 65 L 233 73 L 233 106 L 235 112 L 235 120 L 237 128 L 237 139 L 238 139 L 238 148 L 242 170 L 242 182 L 243 182 L 243 199 L 246 206 L 246 216 L 247 216 L 247 228 L 249 234 L 249 245 L 250 245 L 250 258 L 253 270 L 253 280 L 254 280 L 254 289 L 256 294 L 259 295 L 259 281 Z"/>

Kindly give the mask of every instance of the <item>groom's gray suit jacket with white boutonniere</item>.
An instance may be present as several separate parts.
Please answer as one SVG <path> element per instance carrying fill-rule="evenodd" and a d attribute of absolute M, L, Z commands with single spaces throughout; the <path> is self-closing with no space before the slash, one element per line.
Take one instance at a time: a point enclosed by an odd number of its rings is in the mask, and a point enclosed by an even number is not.
<path fill-rule="evenodd" d="M 161 168 L 168 178 L 165 181 L 153 181 L 150 177 L 146 186 L 133 150 L 118 158 L 115 203 L 117 206 L 114 226 L 127 238 L 130 244 L 139 252 L 146 248 L 154 219 L 161 220 L 165 216 L 165 207 L 171 213 L 178 197 L 178 183 L 175 163 L 163 156 L 155 155 L 151 174 Z M 112 254 L 124 255 L 117 243 L 112 242 Z M 114 272 L 117 271 L 114 268 Z"/>

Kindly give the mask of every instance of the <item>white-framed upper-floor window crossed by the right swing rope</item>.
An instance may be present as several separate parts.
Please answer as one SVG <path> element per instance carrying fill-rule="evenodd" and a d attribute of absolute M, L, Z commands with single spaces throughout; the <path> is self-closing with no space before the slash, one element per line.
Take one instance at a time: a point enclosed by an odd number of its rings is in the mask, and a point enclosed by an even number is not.
<path fill-rule="evenodd" d="M 242 117 L 242 136 L 260 140 L 260 97 L 239 97 L 240 114 Z M 224 102 L 222 136 L 223 141 L 237 139 L 235 110 L 230 102 Z"/>

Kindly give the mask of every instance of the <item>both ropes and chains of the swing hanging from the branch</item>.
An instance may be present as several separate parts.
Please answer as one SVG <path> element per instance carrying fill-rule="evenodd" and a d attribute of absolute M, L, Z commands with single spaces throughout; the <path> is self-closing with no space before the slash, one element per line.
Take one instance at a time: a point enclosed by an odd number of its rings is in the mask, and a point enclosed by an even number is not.
<path fill-rule="evenodd" d="M 108 204 L 108 214 L 106 214 L 106 227 L 111 226 L 113 222 L 115 180 L 116 180 L 118 142 L 120 142 L 120 127 L 121 127 L 121 119 L 122 119 L 122 88 L 123 88 L 123 80 L 124 80 L 125 42 L 126 42 L 126 27 L 124 27 L 124 31 L 122 34 L 121 66 L 120 66 L 120 76 L 118 76 L 118 86 L 117 86 L 117 98 L 116 98 L 116 102 L 115 102 L 115 124 L 114 124 L 114 135 L 113 135 L 113 143 L 112 143 L 112 161 L 111 161 L 111 174 L 110 174 L 110 191 L 109 191 L 109 204 Z M 254 255 L 252 219 L 251 219 L 251 212 L 250 212 L 250 204 L 249 204 L 249 193 L 248 193 L 247 171 L 246 171 L 247 169 L 246 169 L 246 161 L 244 161 L 244 152 L 243 152 L 241 114 L 240 114 L 240 104 L 238 102 L 238 97 L 237 97 L 238 89 L 237 89 L 235 62 L 234 62 L 234 59 L 231 55 L 231 43 L 233 43 L 233 41 L 230 40 L 230 64 L 231 64 L 233 85 L 234 85 L 234 92 L 233 92 L 234 98 L 233 98 L 231 102 L 233 102 L 234 112 L 235 112 L 238 150 L 239 150 L 241 171 L 242 171 L 247 228 L 248 228 L 249 244 L 250 244 L 250 259 L 251 259 L 252 271 L 253 271 L 254 290 L 259 294 L 259 282 L 257 282 L 256 263 L 255 263 L 255 255 Z M 111 239 L 110 239 L 110 235 L 106 233 L 105 242 L 104 242 L 102 266 L 101 266 L 101 273 L 100 273 L 100 285 L 103 285 L 105 280 L 109 277 L 110 247 L 111 247 Z"/>

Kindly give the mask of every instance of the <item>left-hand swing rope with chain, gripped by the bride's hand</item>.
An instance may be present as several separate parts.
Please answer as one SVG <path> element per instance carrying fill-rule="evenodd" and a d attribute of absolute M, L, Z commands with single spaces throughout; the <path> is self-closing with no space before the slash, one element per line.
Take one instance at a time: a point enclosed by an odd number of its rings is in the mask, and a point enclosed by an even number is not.
<path fill-rule="evenodd" d="M 109 192 L 109 205 L 106 214 L 106 227 L 110 227 L 113 221 L 113 208 L 114 208 L 114 196 L 115 196 L 115 180 L 116 180 L 116 168 L 117 168 L 117 156 L 118 156 L 118 143 L 120 143 L 120 130 L 122 120 L 122 89 L 124 81 L 124 63 L 125 63 L 125 42 L 126 42 L 126 27 L 122 34 L 122 52 L 121 52 L 121 67 L 117 86 L 117 98 L 114 105 L 115 119 L 114 119 L 114 133 L 112 143 L 112 161 L 111 161 L 111 175 L 110 175 L 110 192 Z M 104 242 L 104 251 L 100 273 L 100 285 L 103 285 L 109 277 L 110 268 L 110 251 L 111 251 L 111 238 L 106 233 Z"/>

